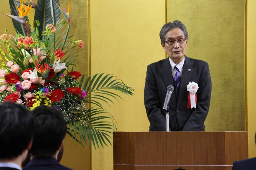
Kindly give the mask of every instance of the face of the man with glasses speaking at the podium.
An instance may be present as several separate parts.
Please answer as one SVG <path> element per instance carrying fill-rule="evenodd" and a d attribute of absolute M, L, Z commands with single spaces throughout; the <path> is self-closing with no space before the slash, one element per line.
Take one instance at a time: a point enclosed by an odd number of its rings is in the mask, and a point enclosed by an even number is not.
<path fill-rule="evenodd" d="M 162 44 L 163 49 L 166 51 L 166 53 L 171 57 L 171 60 L 178 64 L 183 60 L 183 56 L 186 53 L 187 50 L 187 40 L 183 43 L 178 43 L 178 39 L 185 38 L 184 33 L 181 29 L 175 28 L 172 30 L 169 30 L 165 35 L 165 41 L 175 41 L 174 44 L 169 45 L 165 42 L 165 44 Z"/>

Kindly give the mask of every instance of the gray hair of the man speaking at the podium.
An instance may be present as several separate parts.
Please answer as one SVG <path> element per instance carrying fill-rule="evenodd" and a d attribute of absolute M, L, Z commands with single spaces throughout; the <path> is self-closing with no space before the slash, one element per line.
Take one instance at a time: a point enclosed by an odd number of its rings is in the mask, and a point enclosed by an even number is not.
<path fill-rule="evenodd" d="M 169 22 L 167 24 L 165 24 L 160 33 L 159 33 L 159 36 L 160 36 L 160 39 L 161 39 L 161 44 L 165 44 L 165 35 L 166 33 L 169 31 L 169 30 L 172 30 L 172 29 L 175 29 L 175 28 L 179 28 L 183 31 L 184 33 L 184 36 L 186 39 L 189 39 L 189 36 L 187 35 L 187 29 L 186 27 L 184 26 L 184 24 L 181 23 L 181 21 L 173 21 L 173 23 Z"/>

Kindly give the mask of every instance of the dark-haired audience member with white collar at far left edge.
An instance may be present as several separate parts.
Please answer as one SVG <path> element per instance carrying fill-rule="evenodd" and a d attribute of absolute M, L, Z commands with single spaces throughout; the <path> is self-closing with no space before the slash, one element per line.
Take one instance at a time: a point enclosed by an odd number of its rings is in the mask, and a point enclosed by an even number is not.
<path fill-rule="evenodd" d="M 0 104 L 0 170 L 21 170 L 31 147 L 33 118 L 22 105 Z"/>

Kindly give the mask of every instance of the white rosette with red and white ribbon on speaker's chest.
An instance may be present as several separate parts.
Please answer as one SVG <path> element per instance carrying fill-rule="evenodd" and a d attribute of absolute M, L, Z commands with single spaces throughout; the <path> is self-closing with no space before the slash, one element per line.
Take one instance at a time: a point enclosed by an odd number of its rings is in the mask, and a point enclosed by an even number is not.
<path fill-rule="evenodd" d="M 187 91 L 189 92 L 189 97 L 187 100 L 187 108 L 197 108 L 197 90 L 199 89 L 198 84 L 195 81 L 189 82 L 187 84 Z"/>

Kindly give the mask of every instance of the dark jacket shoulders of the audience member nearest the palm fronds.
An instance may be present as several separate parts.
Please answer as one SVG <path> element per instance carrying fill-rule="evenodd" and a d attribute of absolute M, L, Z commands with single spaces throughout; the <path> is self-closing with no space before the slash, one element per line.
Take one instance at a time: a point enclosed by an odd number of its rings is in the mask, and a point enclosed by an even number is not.
<path fill-rule="evenodd" d="M 72 170 L 64 167 L 53 157 L 33 158 L 23 170 Z"/>

